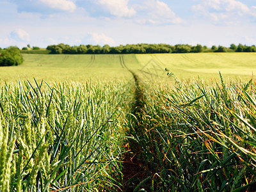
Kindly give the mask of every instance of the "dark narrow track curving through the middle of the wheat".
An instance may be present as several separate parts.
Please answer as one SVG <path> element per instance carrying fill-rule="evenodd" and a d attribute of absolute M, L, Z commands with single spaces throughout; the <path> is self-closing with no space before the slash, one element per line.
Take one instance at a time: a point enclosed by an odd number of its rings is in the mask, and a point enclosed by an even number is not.
<path fill-rule="evenodd" d="M 124 68 L 127 68 L 127 66 L 124 64 L 124 58 L 122 60 L 122 66 Z M 127 68 L 129 70 L 129 68 Z M 139 138 L 145 134 L 145 116 L 146 116 L 146 96 L 145 96 L 145 90 L 144 85 L 141 83 L 140 77 L 135 74 L 132 70 L 129 70 L 129 72 L 132 74 L 132 77 L 134 79 L 134 90 L 133 90 L 133 97 L 131 103 L 131 111 L 129 114 L 132 114 L 132 119 L 130 124 L 128 125 L 129 131 L 126 132 L 128 137 L 131 137 L 131 135 L 138 135 Z M 134 132 L 135 131 L 135 132 Z M 128 139 L 129 145 L 125 145 L 125 152 L 123 154 L 123 163 L 122 163 L 122 173 L 124 175 L 124 186 L 122 191 L 134 191 L 134 189 L 138 188 L 138 185 L 142 180 L 145 179 L 145 177 L 148 177 L 147 165 L 141 161 L 140 154 L 142 151 L 142 148 L 138 143 L 134 143 L 134 141 Z M 143 185 L 141 186 L 143 187 Z"/>

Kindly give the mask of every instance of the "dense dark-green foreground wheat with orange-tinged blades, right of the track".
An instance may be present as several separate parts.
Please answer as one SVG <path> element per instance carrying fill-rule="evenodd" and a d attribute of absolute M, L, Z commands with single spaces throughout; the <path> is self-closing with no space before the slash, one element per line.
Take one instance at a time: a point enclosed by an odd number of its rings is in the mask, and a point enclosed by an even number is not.
<path fill-rule="evenodd" d="M 220 79 L 144 85 L 140 122 L 127 116 L 139 165 L 127 190 L 256 190 L 256 81 Z"/>

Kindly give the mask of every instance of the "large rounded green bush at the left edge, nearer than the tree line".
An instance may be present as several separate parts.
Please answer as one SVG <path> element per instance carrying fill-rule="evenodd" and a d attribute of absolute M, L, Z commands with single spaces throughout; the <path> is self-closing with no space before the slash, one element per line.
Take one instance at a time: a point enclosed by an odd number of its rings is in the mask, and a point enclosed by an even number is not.
<path fill-rule="evenodd" d="M 20 65 L 22 63 L 23 58 L 18 47 L 8 47 L 1 52 L 0 66 Z"/>

